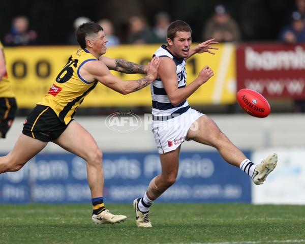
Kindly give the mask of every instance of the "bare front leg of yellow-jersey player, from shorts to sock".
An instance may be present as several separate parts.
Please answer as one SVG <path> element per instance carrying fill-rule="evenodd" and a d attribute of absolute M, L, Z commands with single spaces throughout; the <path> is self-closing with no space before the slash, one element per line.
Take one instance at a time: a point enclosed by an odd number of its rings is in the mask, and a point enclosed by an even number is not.
<path fill-rule="evenodd" d="M 87 162 L 87 178 L 92 198 L 103 196 L 102 151 L 93 136 L 75 120 L 72 120 L 63 134 L 52 142 Z"/>

